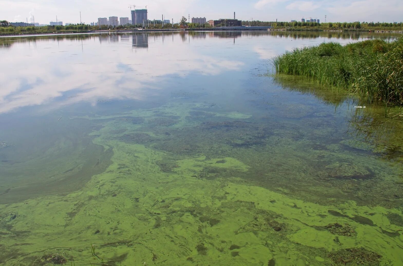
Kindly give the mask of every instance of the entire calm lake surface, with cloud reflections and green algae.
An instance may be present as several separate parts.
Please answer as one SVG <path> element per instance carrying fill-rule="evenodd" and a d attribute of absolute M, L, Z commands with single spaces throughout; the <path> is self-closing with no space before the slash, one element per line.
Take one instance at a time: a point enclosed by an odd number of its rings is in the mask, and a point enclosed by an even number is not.
<path fill-rule="evenodd" d="M 315 34 L 0 39 L 0 265 L 403 265 L 403 123 L 267 75 Z"/>

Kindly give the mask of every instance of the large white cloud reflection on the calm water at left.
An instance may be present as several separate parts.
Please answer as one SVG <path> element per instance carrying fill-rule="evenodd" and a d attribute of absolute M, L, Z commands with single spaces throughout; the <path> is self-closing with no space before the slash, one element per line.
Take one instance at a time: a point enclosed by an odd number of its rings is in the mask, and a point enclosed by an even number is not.
<path fill-rule="evenodd" d="M 141 100 L 164 89 L 164 78 L 181 78 L 196 72 L 217 75 L 239 70 L 243 65 L 235 58 L 223 60 L 199 53 L 191 45 L 181 45 L 178 34 L 86 37 L 19 40 L 11 49 L 3 50 L 8 71 L 0 73 L 4 84 L 0 113 L 31 105 Z M 67 94 L 70 96 L 64 97 Z"/>

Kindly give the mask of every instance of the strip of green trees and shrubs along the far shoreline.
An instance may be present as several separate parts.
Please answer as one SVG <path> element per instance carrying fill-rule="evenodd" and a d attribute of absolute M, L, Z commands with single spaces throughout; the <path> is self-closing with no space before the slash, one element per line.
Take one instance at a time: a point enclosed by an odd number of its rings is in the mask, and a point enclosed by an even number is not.
<path fill-rule="evenodd" d="M 185 30 L 197 30 L 197 29 L 211 29 L 220 30 L 220 27 L 212 27 L 208 23 L 185 23 L 187 29 Z M 161 24 L 150 23 L 152 27 L 146 28 L 150 30 L 161 29 L 180 29 L 178 23 L 164 24 L 162 28 Z M 361 31 L 361 32 L 403 32 L 403 23 L 374 23 L 374 22 L 337 22 L 337 23 L 316 23 L 316 22 L 270 22 L 270 21 L 242 21 L 242 25 L 245 26 L 266 26 L 272 27 L 271 30 L 282 31 Z M 89 33 L 94 31 L 121 31 L 121 30 L 135 30 L 142 28 L 142 25 L 119 25 L 117 27 L 110 27 L 109 25 L 91 26 L 86 24 L 76 24 L 67 26 L 28 26 L 28 27 L 14 27 L 9 25 L 8 21 L 0 21 L 0 36 L 2 35 L 27 35 L 27 34 L 47 34 L 47 33 Z M 248 29 L 248 27 L 245 27 Z"/>

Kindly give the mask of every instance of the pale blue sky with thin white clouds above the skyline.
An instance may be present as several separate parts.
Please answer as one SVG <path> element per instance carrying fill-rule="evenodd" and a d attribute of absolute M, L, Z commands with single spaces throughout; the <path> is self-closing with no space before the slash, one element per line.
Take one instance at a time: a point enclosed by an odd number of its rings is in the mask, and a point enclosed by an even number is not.
<path fill-rule="evenodd" d="M 147 5 L 149 19 L 206 17 L 236 18 L 244 21 L 300 21 L 317 18 L 321 22 L 403 21 L 403 0 L 0 0 L 0 20 L 49 24 L 50 21 L 89 24 L 98 17 L 129 17 L 129 5 L 136 9 Z"/>

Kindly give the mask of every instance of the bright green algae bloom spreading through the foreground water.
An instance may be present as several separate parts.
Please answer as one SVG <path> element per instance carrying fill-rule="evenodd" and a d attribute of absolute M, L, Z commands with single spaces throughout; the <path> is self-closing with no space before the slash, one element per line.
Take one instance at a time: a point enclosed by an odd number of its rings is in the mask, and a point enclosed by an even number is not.
<path fill-rule="evenodd" d="M 70 194 L 2 205 L 0 261 L 31 265 L 68 252 L 76 265 L 87 265 L 88 243 L 110 265 L 333 265 L 357 252 L 380 265 L 403 261 L 401 199 L 386 208 L 374 195 L 363 204 L 370 187 L 397 190 L 387 162 L 342 150 L 337 141 L 318 148 L 309 128 L 293 121 L 277 131 L 253 117 L 189 122 L 194 107 L 165 110 L 99 117 L 103 127 L 90 135 L 113 152 L 106 171 Z M 161 115 L 174 122 L 162 123 Z M 283 133 L 291 128 L 295 135 Z M 348 165 L 335 163 L 343 161 L 377 178 L 317 174 L 328 167 L 349 176 Z"/>

